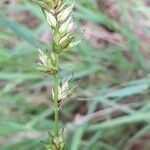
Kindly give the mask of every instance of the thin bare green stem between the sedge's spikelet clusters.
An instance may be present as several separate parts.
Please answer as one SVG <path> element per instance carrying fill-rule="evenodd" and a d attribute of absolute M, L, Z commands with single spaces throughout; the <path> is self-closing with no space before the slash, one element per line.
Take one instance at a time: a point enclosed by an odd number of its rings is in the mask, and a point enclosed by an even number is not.
<path fill-rule="evenodd" d="M 56 66 L 59 68 L 58 55 L 55 54 Z M 55 111 L 55 136 L 59 134 L 59 110 L 58 110 L 58 86 L 59 86 L 59 73 L 54 76 L 54 111 Z"/>

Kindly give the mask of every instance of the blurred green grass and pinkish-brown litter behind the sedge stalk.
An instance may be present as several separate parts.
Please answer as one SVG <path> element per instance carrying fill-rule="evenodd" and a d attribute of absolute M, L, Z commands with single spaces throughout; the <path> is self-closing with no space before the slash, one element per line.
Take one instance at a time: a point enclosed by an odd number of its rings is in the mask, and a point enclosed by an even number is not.
<path fill-rule="evenodd" d="M 150 150 L 150 2 L 81 0 L 84 40 L 61 56 L 80 86 L 61 109 L 67 150 Z M 52 79 L 36 71 L 50 29 L 30 0 L 0 1 L 0 150 L 40 150 L 53 128 Z"/>

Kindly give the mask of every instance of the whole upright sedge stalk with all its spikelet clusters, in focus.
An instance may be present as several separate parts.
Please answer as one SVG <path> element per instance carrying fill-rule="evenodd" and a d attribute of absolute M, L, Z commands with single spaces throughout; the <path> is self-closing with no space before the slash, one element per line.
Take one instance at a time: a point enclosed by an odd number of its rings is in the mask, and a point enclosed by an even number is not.
<path fill-rule="evenodd" d="M 59 129 L 59 109 L 71 96 L 77 85 L 70 87 L 66 78 L 60 82 L 60 55 L 78 44 L 77 35 L 72 32 L 74 21 L 71 16 L 75 2 L 68 0 L 33 0 L 42 9 L 52 33 L 52 48 L 47 51 L 38 49 L 38 69 L 53 77 L 52 99 L 54 104 L 54 129 L 49 132 L 49 139 L 44 143 L 46 150 L 64 150 L 65 138 Z"/>

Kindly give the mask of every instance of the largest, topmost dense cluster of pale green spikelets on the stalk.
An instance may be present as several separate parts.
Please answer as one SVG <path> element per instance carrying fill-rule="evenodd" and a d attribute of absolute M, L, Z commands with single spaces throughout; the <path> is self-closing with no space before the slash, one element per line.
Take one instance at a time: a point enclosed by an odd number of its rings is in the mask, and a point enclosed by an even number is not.
<path fill-rule="evenodd" d="M 67 0 L 34 0 L 43 10 L 49 27 L 52 29 L 52 50 L 62 53 L 70 50 L 81 40 L 72 34 L 74 21 L 71 13 L 75 2 L 68 5 Z"/>

